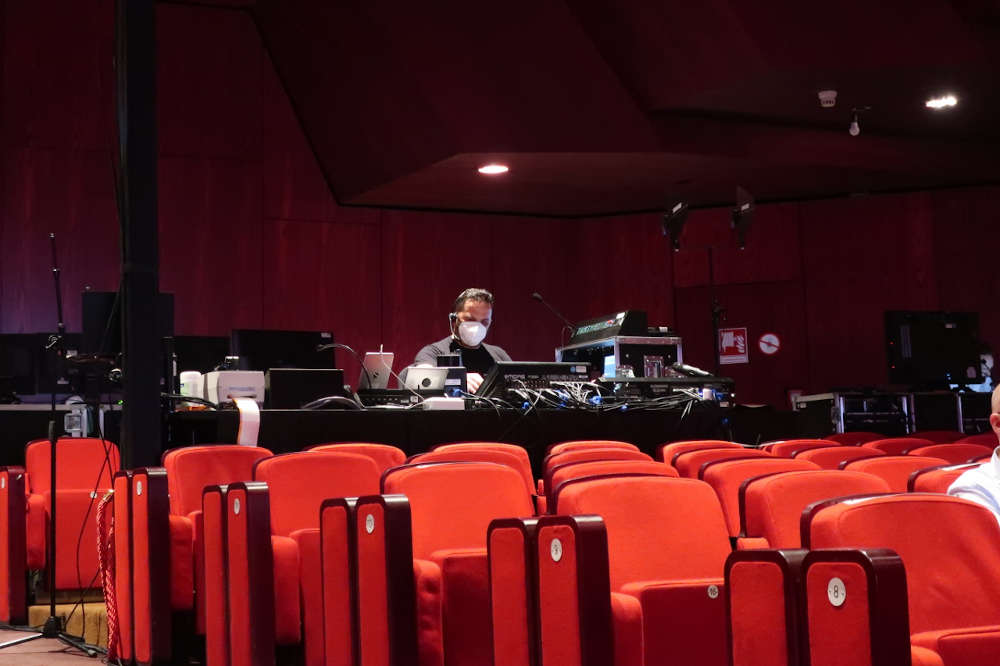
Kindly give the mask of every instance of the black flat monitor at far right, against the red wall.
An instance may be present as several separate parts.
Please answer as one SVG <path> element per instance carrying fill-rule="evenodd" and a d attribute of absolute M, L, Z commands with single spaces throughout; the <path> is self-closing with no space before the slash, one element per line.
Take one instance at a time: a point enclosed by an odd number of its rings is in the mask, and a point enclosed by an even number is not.
<path fill-rule="evenodd" d="M 983 381 L 976 312 L 885 313 L 889 383 L 921 388 Z"/>

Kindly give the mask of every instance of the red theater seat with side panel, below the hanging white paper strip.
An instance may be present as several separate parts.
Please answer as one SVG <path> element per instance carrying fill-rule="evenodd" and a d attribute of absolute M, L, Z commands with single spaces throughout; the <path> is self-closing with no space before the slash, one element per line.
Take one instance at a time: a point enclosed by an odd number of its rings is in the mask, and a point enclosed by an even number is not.
<path fill-rule="evenodd" d="M 163 455 L 162 468 L 123 471 L 115 483 L 115 551 L 118 615 L 123 657 L 142 663 L 173 656 L 174 614 L 194 613 L 195 633 L 207 635 L 206 625 L 224 617 L 225 605 L 208 587 L 219 574 L 206 576 L 206 543 L 224 538 L 219 521 L 206 523 L 202 511 L 205 486 L 253 478 L 253 465 L 271 455 L 250 446 L 206 445 L 172 449 Z M 123 570 L 128 576 L 123 575 Z M 214 605 L 213 605 L 214 604 Z M 131 615 L 123 608 L 131 609 Z M 220 663 L 220 662 L 215 662 Z M 224 662 L 221 662 L 224 663 Z"/>

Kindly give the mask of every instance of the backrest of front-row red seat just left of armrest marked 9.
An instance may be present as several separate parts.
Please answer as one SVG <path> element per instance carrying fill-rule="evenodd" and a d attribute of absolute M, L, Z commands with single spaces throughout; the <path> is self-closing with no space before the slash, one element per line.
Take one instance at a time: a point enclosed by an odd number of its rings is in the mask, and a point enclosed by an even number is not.
<path fill-rule="evenodd" d="M 495 463 L 397 467 L 382 477 L 382 493 L 409 499 L 415 559 L 437 550 L 485 548 L 491 521 L 530 516 L 534 509 L 521 474 Z"/>

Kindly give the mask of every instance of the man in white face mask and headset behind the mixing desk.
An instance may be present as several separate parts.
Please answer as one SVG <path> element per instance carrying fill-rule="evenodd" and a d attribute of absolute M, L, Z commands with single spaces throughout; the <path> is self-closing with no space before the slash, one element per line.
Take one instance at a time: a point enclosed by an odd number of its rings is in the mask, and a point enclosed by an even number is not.
<path fill-rule="evenodd" d="M 474 393 L 497 361 L 510 360 L 503 349 L 483 342 L 493 323 L 493 294 L 485 289 L 466 289 L 455 299 L 448 321 L 451 335 L 421 349 L 413 363 L 435 366 L 438 356 L 459 354 L 468 370 L 469 391 Z"/>

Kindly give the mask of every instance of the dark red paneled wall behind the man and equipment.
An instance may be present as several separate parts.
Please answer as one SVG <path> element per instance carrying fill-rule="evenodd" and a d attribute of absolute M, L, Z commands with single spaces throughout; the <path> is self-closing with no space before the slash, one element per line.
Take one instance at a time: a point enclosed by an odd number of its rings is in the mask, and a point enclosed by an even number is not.
<path fill-rule="evenodd" d="M 110 0 L 0 0 L 2 332 L 52 327 L 49 231 L 70 330 L 85 285 L 116 288 L 111 13 Z M 446 334 L 459 290 L 485 286 L 491 338 L 515 358 L 549 359 L 559 341 L 537 290 L 571 319 L 646 309 L 681 332 L 688 362 L 711 367 L 714 293 L 752 343 L 782 338 L 777 355 L 752 344 L 749 365 L 725 368 L 741 401 L 774 404 L 788 388 L 884 383 L 886 309 L 977 310 L 1000 347 L 1000 189 L 761 206 L 745 250 L 727 211 L 699 211 L 676 254 L 656 216 L 341 208 L 249 18 L 177 5 L 157 18 L 160 279 L 179 334 L 332 329 L 408 359 Z"/>

